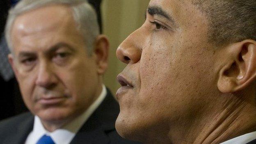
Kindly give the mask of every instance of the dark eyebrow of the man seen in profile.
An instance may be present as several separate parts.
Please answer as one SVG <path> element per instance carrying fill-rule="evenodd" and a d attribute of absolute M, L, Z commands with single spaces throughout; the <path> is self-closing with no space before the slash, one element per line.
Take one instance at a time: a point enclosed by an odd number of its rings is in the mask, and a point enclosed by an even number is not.
<path fill-rule="evenodd" d="M 160 6 L 149 6 L 147 9 L 147 12 L 151 16 L 158 15 L 158 16 L 164 17 L 167 20 L 171 21 L 171 23 L 173 23 L 174 26 L 177 26 L 176 22 L 174 21 L 174 18 L 170 14 L 168 14 L 167 11 L 162 9 L 162 7 Z"/>

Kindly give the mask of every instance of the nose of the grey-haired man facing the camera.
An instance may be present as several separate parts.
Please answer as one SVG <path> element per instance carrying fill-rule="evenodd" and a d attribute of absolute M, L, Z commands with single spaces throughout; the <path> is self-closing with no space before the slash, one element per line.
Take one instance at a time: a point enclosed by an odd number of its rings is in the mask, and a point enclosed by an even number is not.
<path fill-rule="evenodd" d="M 48 62 L 41 62 L 37 71 L 36 85 L 50 89 L 57 84 L 57 77 Z"/>

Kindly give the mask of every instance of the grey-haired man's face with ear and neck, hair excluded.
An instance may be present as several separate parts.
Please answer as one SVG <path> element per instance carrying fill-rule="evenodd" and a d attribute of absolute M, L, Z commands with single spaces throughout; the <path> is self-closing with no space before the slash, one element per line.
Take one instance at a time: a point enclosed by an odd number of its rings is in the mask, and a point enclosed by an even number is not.
<path fill-rule="evenodd" d="M 54 131 L 96 100 L 107 68 L 108 41 L 99 36 L 91 56 L 69 7 L 51 5 L 18 16 L 9 61 L 28 109 Z"/>

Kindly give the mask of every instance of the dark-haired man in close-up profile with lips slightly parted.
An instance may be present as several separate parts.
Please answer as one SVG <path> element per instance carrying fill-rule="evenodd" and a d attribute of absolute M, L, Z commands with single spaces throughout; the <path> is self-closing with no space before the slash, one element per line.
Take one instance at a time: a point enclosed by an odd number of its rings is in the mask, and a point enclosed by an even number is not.
<path fill-rule="evenodd" d="M 145 144 L 256 144 L 256 1 L 151 0 L 121 43 L 118 133 Z"/>

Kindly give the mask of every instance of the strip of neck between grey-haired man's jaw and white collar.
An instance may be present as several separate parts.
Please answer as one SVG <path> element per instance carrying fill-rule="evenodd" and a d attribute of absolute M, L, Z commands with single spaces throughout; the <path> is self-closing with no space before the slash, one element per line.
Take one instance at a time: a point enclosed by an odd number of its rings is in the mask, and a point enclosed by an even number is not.
<path fill-rule="evenodd" d="M 71 121 L 73 121 L 75 118 L 79 117 L 81 114 L 83 114 L 83 112 L 85 112 L 89 106 L 94 103 L 94 101 L 96 101 L 96 99 L 99 97 L 99 95 L 101 94 L 102 91 L 102 82 L 100 82 L 97 90 L 96 90 L 96 94 L 94 99 L 91 101 L 91 103 L 88 103 L 87 105 L 85 105 L 84 110 L 82 110 L 81 112 L 75 113 L 72 116 L 66 117 L 65 119 L 60 119 L 60 120 L 53 120 L 53 121 L 44 121 L 42 119 L 41 123 L 43 124 L 43 127 L 49 131 L 49 132 L 53 132 L 59 128 L 62 128 L 63 126 L 65 126 L 66 124 L 70 123 Z"/>

